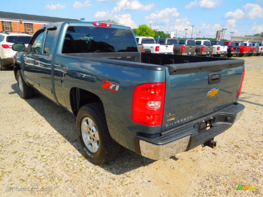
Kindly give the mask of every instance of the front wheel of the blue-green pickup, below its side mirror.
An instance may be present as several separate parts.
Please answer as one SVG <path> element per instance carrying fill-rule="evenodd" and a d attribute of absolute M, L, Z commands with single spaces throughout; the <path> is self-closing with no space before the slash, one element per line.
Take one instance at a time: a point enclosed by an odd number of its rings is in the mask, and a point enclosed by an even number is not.
<path fill-rule="evenodd" d="M 32 87 L 29 87 L 26 82 L 24 81 L 21 70 L 19 69 L 17 71 L 17 86 L 18 86 L 18 94 L 21 98 L 32 98 L 34 97 L 34 89 Z"/>

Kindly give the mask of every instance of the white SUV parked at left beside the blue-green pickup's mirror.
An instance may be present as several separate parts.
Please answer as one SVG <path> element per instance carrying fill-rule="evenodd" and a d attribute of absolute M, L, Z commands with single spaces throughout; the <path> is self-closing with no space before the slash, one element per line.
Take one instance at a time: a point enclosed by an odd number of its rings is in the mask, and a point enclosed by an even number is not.
<path fill-rule="evenodd" d="M 12 45 L 16 42 L 28 45 L 32 35 L 25 33 L 0 32 L 0 70 L 7 70 L 13 64 L 16 51 L 12 50 Z"/>

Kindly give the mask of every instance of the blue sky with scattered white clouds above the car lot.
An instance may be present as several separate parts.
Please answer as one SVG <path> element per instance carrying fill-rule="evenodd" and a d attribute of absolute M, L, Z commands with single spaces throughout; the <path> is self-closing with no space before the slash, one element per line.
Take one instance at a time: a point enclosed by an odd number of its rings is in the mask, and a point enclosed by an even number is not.
<path fill-rule="evenodd" d="M 183 37 L 224 38 L 263 32 L 263 0 L 1 0 L 0 11 L 36 14 L 85 21 L 114 20 L 131 28 L 147 24 L 152 29 Z M 192 26 L 194 25 L 194 26 Z"/>

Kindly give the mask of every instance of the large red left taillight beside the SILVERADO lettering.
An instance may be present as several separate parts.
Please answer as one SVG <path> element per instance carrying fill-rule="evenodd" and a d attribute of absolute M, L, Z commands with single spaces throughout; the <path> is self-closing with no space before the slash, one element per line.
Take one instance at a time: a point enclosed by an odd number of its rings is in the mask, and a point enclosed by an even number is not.
<path fill-rule="evenodd" d="M 146 126 L 163 122 L 166 83 L 141 84 L 135 87 L 132 102 L 132 121 Z"/>

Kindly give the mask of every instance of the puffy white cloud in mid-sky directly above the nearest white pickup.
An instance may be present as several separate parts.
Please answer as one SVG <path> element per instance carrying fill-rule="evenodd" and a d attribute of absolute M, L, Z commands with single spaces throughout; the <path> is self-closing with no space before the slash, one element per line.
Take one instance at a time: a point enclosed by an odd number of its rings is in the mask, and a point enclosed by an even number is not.
<path fill-rule="evenodd" d="M 179 17 L 179 15 L 180 13 L 177 11 L 176 8 L 165 8 L 151 13 L 150 15 L 145 17 L 145 20 L 148 21 L 149 24 L 153 24 L 155 22 L 159 24 L 169 24 L 170 19 Z"/>

